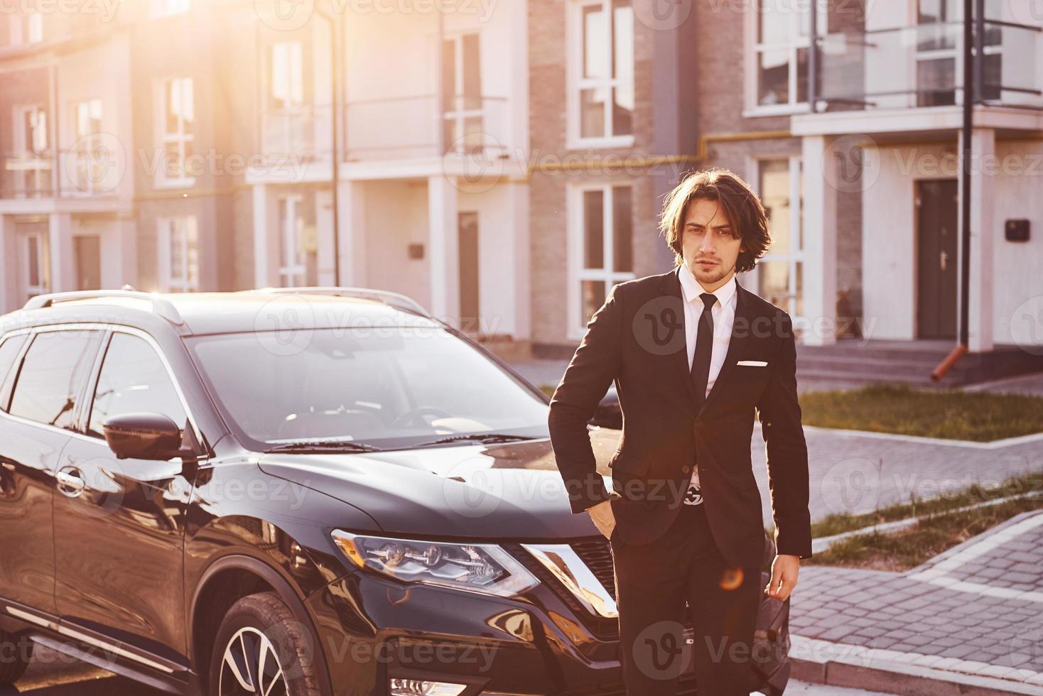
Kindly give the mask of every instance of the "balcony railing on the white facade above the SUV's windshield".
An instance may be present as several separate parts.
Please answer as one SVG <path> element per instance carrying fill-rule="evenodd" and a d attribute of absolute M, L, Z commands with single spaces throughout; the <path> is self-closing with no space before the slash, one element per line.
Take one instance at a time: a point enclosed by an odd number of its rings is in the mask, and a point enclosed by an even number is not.
<path fill-rule="evenodd" d="M 431 95 L 348 102 L 349 161 L 483 154 L 498 157 L 510 150 L 505 98 L 450 97 L 439 108 Z"/>

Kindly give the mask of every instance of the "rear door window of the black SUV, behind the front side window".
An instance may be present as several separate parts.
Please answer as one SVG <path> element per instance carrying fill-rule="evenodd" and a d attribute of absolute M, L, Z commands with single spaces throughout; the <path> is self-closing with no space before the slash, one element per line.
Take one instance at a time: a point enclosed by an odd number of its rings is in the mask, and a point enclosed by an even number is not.
<path fill-rule="evenodd" d="M 42 331 L 32 339 L 15 382 L 10 415 L 71 428 L 101 331 Z"/>

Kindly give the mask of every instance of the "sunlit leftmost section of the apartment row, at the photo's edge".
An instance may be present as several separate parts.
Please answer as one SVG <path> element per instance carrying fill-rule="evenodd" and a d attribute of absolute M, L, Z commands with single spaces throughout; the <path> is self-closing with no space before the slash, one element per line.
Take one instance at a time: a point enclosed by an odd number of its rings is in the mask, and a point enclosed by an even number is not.
<path fill-rule="evenodd" d="M 130 31 L 87 15 L 0 15 L 0 309 L 132 277 Z M 98 79 L 106 75 L 106 79 Z"/>

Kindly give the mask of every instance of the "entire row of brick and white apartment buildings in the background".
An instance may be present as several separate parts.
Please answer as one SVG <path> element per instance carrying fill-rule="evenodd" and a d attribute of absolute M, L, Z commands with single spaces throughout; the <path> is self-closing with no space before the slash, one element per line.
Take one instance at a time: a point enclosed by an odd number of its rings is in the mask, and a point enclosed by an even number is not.
<path fill-rule="evenodd" d="M 1043 24 L 983 4 L 969 333 L 989 353 L 1043 344 Z M 662 195 L 722 166 L 775 238 L 739 280 L 802 345 L 955 339 L 960 2 L 259 7 L 0 15 L 0 308 L 366 285 L 567 357 L 613 283 L 672 267 Z"/>

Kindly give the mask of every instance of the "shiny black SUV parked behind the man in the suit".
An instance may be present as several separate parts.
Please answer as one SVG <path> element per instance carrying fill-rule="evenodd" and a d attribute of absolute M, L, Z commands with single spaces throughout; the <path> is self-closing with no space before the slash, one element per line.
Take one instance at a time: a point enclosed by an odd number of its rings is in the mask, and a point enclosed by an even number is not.
<path fill-rule="evenodd" d="M 622 693 L 611 550 L 547 396 L 409 298 L 0 320 L 0 683 L 41 644 L 183 694 Z M 590 434 L 610 476 L 620 432 Z M 780 693 L 789 602 L 762 601 L 751 689 Z"/>

